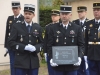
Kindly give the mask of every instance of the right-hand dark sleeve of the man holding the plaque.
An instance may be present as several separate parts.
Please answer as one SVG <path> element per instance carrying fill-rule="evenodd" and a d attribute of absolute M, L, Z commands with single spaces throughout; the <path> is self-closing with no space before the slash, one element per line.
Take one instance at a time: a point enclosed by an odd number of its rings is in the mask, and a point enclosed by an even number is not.
<path fill-rule="evenodd" d="M 84 43 L 84 37 L 82 34 L 82 28 L 79 27 L 78 29 L 78 57 L 82 57 L 84 55 L 85 50 L 85 43 Z"/>

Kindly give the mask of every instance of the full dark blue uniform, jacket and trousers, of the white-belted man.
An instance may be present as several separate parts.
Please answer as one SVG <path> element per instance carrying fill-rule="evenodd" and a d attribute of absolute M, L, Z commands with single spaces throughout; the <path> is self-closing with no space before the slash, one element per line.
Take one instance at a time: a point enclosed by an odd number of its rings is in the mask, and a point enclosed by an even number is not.
<path fill-rule="evenodd" d="M 88 57 L 90 75 L 100 75 L 100 23 L 92 19 L 86 23 L 85 54 Z"/>

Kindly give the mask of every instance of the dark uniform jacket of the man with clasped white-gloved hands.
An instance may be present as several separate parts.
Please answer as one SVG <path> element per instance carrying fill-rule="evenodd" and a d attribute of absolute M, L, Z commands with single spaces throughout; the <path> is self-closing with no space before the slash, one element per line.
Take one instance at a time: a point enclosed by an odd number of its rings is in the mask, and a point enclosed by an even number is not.
<path fill-rule="evenodd" d="M 16 68 L 34 69 L 39 67 L 39 59 L 37 53 L 42 48 L 42 29 L 37 23 L 33 23 L 31 32 L 28 33 L 25 22 L 16 23 L 12 27 L 11 36 L 8 44 L 15 51 Z M 24 50 L 25 46 L 31 44 L 35 46 L 36 51 L 29 52 Z"/>

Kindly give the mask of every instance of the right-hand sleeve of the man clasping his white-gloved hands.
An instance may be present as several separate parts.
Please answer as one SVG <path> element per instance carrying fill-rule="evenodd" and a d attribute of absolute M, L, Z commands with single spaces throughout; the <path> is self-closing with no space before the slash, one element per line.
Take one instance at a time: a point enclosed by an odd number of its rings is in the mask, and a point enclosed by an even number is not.
<path fill-rule="evenodd" d="M 43 47 L 43 38 L 42 38 L 42 28 L 39 29 L 39 37 L 38 37 L 38 43 L 35 45 L 36 52 L 40 52 Z"/>

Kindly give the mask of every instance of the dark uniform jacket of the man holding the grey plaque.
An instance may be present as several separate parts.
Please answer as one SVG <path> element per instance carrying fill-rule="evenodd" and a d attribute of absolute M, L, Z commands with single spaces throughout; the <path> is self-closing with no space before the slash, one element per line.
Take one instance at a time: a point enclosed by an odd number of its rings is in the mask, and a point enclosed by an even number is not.
<path fill-rule="evenodd" d="M 52 46 L 78 46 L 78 56 L 82 57 L 84 52 L 82 29 L 80 26 L 69 23 L 68 28 L 63 28 L 61 23 L 57 23 L 50 28 L 48 37 L 48 52 L 49 57 L 52 58 Z M 72 40 L 73 39 L 73 40 Z M 77 70 L 79 66 L 59 65 L 53 67 L 55 70 L 72 71 Z"/>

